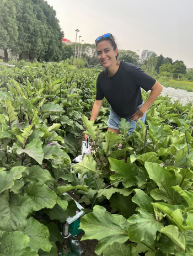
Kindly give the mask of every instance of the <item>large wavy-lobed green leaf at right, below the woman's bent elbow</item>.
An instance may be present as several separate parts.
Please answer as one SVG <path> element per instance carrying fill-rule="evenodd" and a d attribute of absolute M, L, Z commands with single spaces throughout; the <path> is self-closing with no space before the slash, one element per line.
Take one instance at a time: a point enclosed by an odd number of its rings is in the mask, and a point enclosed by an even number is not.
<path fill-rule="evenodd" d="M 149 178 L 153 179 L 159 186 L 159 189 L 151 191 L 152 198 L 167 201 L 172 205 L 178 204 L 179 196 L 171 188 L 171 186 L 178 184 L 178 178 L 176 178 L 174 170 L 160 167 L 158 163 L 146 162 L 145 167 Z"/>

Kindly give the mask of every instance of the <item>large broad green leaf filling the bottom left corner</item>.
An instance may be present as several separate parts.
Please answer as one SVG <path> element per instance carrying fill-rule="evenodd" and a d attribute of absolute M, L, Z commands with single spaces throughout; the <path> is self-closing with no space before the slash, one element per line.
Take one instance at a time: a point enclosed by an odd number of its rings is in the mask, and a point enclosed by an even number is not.
<path fill-rule="evenodd" d="M 30 239 L 23 232 L 0 232 L 0 254 L 3 256 L 38 256 L 29 247 Z"/>

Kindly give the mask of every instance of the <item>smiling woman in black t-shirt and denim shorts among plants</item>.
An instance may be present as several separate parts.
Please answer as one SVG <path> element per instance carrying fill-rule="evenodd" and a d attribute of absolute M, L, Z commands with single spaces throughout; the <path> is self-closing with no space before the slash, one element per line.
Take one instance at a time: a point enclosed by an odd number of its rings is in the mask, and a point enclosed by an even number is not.
<path fill-rule="evenodd" d="M 105 70 L 99 74 L 96 81 L 96 98 L 90 120 L 96 120 L 105 97 L 111 106 L 108 130 L 119 134 L 119 122 L 121 118 L 125 118 L 131 124 L 131 133 L 135 130 L 137 119 L 145 121 L 146 111 L 162 92 L 163 87 L 141 68 L 117 60 L 117 45 L 110 33 L 96 38 L 95 44 L 98 60 Z M 151 90 L 145 103 L 142 100 L 141 88 Z M 86 141 L 88 136 L 84 137 Z"/>

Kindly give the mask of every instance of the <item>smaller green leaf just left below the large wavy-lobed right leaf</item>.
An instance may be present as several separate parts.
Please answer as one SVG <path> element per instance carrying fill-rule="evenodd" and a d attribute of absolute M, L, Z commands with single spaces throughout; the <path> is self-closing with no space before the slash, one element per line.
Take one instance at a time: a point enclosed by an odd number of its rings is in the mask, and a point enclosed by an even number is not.
<path fill-rule="evenodd" d="M 153 214 L 153 200 L 149 198 L 149 196 L 144 193 L 141 189 L 134 189 L 135 190 L 135 196 L 133 196 L 132 201 L 135 202 L 138 206 L 140 206 L 141 209 L 147 210 L 149 213 Z"/>

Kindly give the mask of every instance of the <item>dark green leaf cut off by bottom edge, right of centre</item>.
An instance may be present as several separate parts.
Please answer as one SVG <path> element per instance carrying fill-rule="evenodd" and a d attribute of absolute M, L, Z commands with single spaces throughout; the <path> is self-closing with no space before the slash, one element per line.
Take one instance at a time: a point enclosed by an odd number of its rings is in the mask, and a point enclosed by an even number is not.
<path fill-rule="evenodd" d="M 106 247 L 103 256 L 133 256 L 136 248 L 132 244 L 113 243 L 112 246 Z"/>

